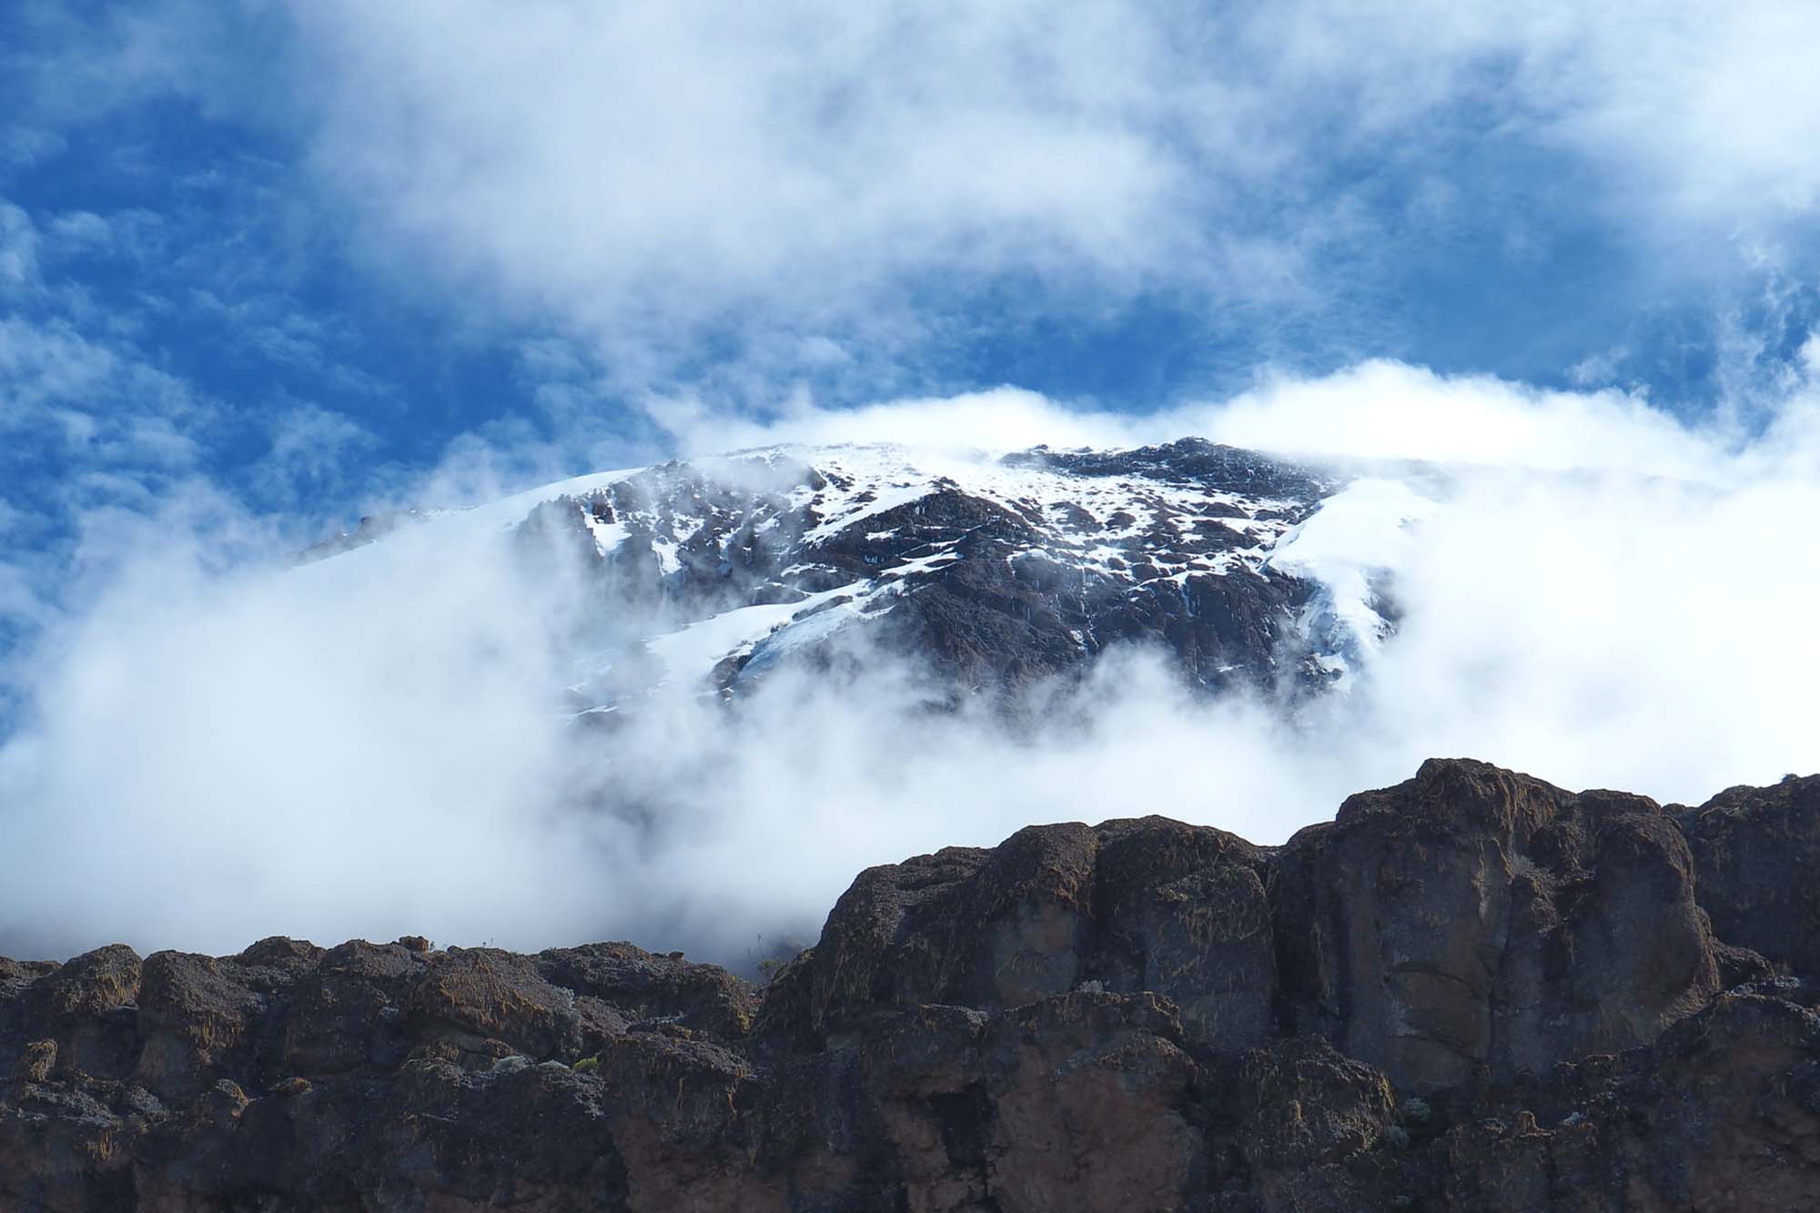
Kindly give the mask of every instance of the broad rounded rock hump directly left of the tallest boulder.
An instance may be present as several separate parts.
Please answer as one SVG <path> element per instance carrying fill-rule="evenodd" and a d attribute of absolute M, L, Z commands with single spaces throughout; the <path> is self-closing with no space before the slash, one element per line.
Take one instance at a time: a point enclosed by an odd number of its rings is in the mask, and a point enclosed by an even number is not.
<path fill-rule="evenodd" d="M 1247 1047 L 1274 1031 L 1267 876 L 1261 849 L 1210 827 L 1030 827 L 994 851 L 863 872 L 777 996 L 803 984 L 803 1014 L 826 1036 L 881 1007 L 1150 991 L 1198 1038 Z"/>

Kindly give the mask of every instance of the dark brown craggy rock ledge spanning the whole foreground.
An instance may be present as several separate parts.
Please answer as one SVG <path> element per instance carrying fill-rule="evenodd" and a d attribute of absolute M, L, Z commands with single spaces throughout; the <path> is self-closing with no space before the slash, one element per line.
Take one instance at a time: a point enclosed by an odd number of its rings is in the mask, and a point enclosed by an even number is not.
<path fill-rule="evenodd" d="M 1820 778 L 1431 761 L 1283 847 L 1163 818 L 863 872 L 681 954 L 0 960 L 4 1209 L 1795 1209 Z"/>

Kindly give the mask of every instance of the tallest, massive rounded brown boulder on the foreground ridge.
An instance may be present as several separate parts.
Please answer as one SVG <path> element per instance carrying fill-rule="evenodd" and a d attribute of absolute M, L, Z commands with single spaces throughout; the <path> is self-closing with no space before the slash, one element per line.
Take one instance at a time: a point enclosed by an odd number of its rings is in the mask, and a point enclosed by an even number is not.
<path fill-rule="evenodd" d="M 1720 985 L 1687 843 L 1642 796 L 1429 761 L 1278 863 L 1296 1031 L 1401 1086 L 1647 1044 Z"/>

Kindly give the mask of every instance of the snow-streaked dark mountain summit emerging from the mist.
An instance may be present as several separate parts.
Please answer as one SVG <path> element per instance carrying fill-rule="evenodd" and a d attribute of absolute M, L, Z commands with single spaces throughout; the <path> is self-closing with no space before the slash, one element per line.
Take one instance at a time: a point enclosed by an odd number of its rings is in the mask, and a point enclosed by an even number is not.
<path fill-rule="evenodd" d="M 1345 488 L 1199 439 L 1003 457 L 772 446 L 584 475 L 431 525 L 510 530 L 582 565 L 630 634 L 579 670 L 577 714 L 662 685 L 737 696 L 790 661 L 879 652 L 976 694 L 1134 641 L 1203 687 L 1298 696 L 1343 683 L 1390 628 L 1369 568 L 1310 525 L 1336 494 L 1336 521 L 1383 505 Z"/>

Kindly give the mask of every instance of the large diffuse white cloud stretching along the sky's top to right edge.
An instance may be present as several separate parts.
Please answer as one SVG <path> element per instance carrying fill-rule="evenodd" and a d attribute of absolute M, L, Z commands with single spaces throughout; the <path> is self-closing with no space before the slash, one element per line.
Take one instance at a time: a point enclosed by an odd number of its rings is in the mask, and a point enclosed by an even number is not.
<path fill-rule="evenodd" d="M 1001 275 L 1050 313 L 1165 291 L 1323 315 L 1487 204 L 1447 177 L 1474 146 L 1534 160 L 1505 189 L 1571 180 L 1556 204 L 1640 240 L 1651 277 L 1805 239 L 1820 182 L 1804 4 L 293 18 L 293 117 L 364 253 L 593 342 L 619 384 L 686 379 L 728 335 L 770 388 L 828 342 L 888 364 Z M 1372 200 L 1385 178 L 1409 217 Z M 1472 222 L 1527 239 L 1514 211 Z"/>

